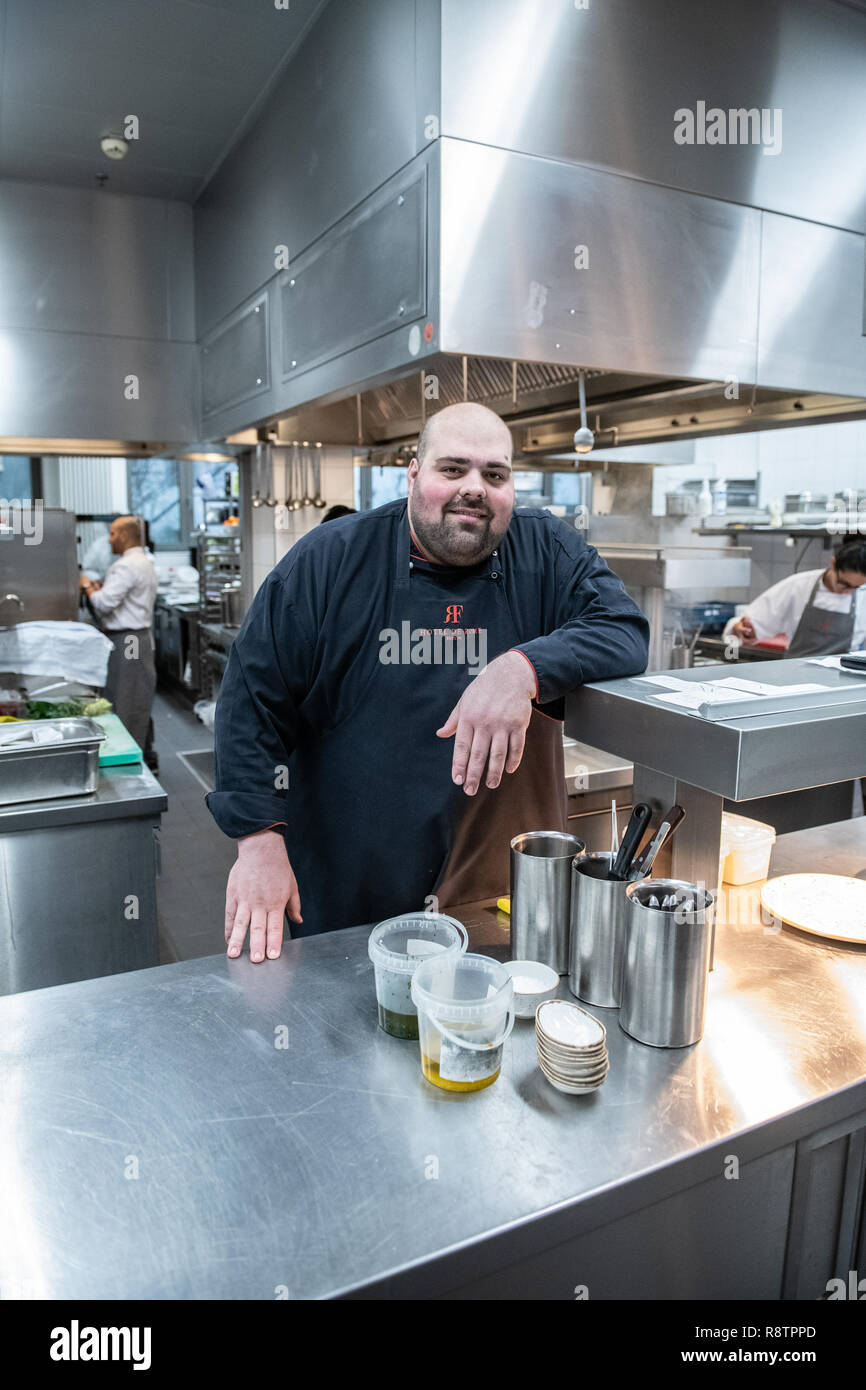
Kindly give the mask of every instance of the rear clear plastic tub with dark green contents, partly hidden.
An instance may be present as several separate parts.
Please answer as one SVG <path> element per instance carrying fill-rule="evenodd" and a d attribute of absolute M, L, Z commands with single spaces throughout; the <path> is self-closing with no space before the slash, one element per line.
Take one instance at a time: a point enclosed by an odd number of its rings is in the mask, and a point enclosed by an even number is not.
<path fill-rule="evenodd" d="M 468 945 L 466 927 L 441 913 L 403 913 L 379 922 L 370 933 L 367 954 L 375 972 L 379 1027 L 395 1038 L 417 1038 L 418 1013 L 411 999 L 411 977 L 421 960 Z"/>

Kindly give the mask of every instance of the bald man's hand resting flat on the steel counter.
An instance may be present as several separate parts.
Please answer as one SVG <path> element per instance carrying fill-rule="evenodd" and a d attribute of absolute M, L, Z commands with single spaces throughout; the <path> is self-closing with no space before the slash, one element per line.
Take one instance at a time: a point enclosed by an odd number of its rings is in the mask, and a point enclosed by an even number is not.
<path fill-rule="evenodd" d="M 238 841 L 238 859 L 225 890 L 225 940 L 228 955 L 240 955 L 249 929 L 250 959 L 275 959 L 282 948 L 282 917 L 300 916 L 297 880 L 289 863 L 285 841 L 274 830 L 260 830 Z"/>

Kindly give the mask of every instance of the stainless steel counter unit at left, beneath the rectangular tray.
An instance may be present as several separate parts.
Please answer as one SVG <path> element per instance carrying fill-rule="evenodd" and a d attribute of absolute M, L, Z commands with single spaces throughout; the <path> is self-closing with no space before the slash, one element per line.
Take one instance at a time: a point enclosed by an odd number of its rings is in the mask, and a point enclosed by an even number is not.
<path fill-rule="evenodd" d="M 118 766 L 89 795 L 0 809 L 0 994 L 157 963 L 167 805 L 146 767 Z"/>

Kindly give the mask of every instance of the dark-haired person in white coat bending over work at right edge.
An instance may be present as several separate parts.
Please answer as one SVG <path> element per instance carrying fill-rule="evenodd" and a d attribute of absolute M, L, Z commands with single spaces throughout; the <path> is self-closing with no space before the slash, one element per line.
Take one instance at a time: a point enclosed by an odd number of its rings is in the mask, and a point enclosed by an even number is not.
<path fill-rule="evenodd" d="M 866 641 L 866 537 L 848 535 L 826 570 L 780 580 L 731 619 L 724 637 L 745 646 L 783 634 L 787 656 L 835 656 Z"/>

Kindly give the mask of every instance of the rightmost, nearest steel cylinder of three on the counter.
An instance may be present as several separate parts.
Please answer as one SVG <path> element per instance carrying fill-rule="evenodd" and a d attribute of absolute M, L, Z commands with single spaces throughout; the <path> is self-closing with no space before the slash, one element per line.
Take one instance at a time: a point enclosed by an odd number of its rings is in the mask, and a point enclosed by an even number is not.
<path fill-rule="evenodd" d="M 680 906 L 646 905 L 670 894 Z M 703 1034 L 716 895 L 678 878 L 644 878 L 628 884 L 627 898 L 620 1027 L 651 1047 L 691 1047 Z"/>

